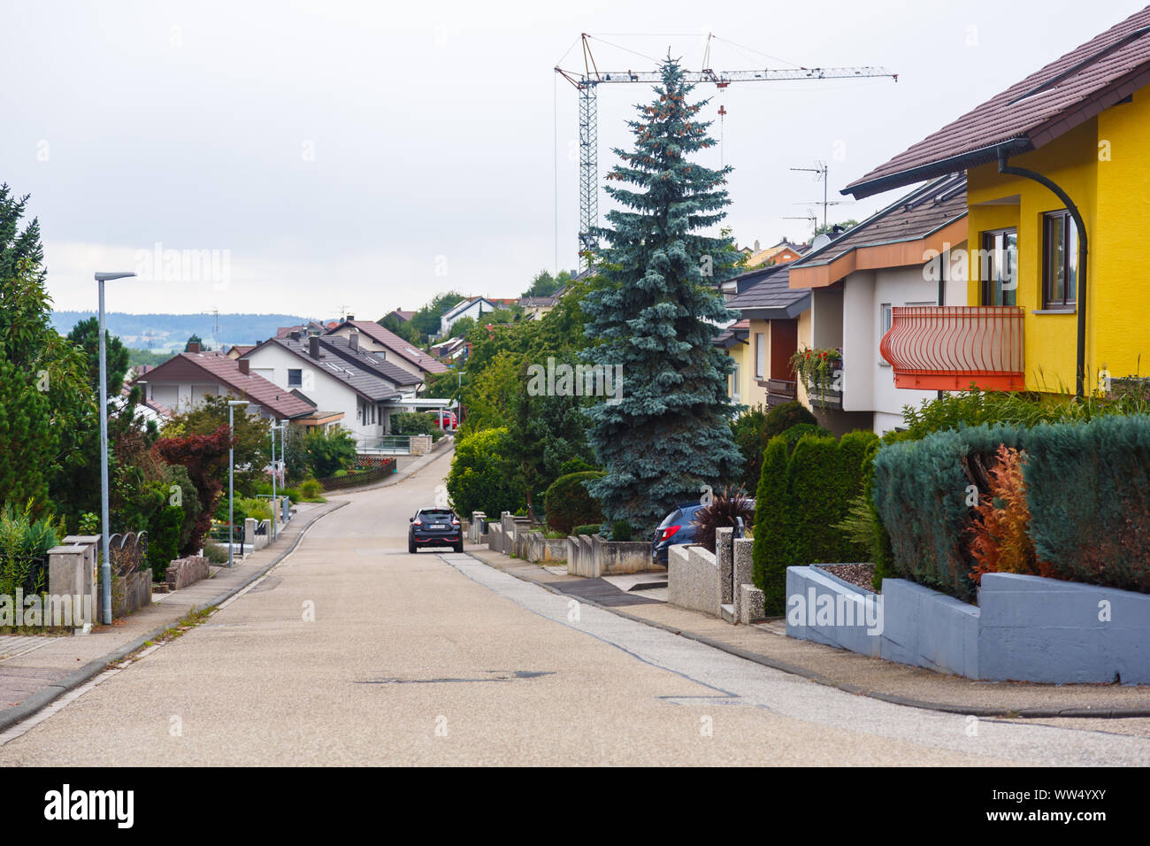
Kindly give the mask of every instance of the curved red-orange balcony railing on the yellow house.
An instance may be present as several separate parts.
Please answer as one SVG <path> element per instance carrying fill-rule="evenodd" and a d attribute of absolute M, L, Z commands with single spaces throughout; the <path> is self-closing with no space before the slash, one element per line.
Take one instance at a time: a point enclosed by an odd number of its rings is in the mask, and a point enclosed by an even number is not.
<path fill-rule="evenodd" d="M 1022 308 L 904 306 L 879 344 L 896 388 L 1022 390 Z"/>

